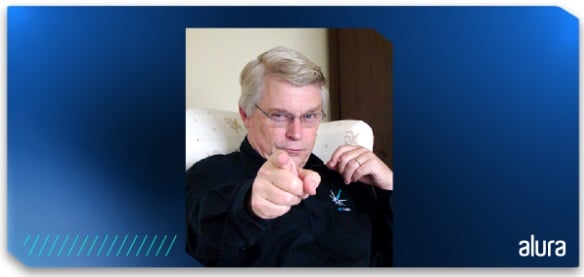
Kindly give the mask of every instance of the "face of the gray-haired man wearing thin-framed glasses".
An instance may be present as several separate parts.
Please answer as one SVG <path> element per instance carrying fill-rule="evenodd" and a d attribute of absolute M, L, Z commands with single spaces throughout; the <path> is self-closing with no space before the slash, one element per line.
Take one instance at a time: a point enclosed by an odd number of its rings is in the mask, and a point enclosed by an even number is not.
<path fill-rule="evenodd" d="M 258 103 L 267 114 L 289 113 L 294 120 L 285 126 L 275 126 L 274 122 L 256 108 L 252 115 L 240 111 L 247 128 L 251 146 L 266 159 L 275 149 L 284 150 L 298 167 L 303 167 L 312 153 L 318 124 L 303 126 L 299 116 L 321 112 L 320 89 L 316 85 L 296 87 L 275 78 L 264 78 L 264 93 Z"/>

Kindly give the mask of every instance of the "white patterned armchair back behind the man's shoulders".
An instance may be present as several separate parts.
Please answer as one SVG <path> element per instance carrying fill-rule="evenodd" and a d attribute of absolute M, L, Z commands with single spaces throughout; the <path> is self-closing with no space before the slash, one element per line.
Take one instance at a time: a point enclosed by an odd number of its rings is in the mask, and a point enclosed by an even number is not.
<path fill-rule="evenodd" d="M 238 151 L 246 129 L 239 113 L 213 109 L 186 110 L 186 169 L 214 154 Z M 341 145 L 373 149 L 373 130 L 361 120 L 323 121 L 318 128 L 313 153 L 326 162 Z"/>

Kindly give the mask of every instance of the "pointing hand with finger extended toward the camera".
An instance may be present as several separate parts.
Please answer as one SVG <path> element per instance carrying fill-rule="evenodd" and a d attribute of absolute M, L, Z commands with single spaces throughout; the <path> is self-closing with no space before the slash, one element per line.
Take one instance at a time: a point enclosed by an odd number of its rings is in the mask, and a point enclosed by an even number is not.
<path fill-rule="evenodd" d="M 288 153 L 275 150 L 258 171 L 251 189 L 251 210 L 273 219 L 287 213 L 303 199 L 316 194 L 320 175 L 297 168 Z"/>

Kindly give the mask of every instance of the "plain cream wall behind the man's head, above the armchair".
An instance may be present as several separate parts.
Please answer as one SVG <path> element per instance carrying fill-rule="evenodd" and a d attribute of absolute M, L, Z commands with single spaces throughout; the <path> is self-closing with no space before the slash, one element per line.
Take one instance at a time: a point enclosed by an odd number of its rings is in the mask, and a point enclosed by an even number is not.
<path fill-rule="evenodd" d="M 187 29 L 186 108 L 237 111 L 241 70 L 275 46 L 302 52 L 320 65 L 328 78 L 326 29 Z M 328 102 L 325 112 L 330 114 Z"/>

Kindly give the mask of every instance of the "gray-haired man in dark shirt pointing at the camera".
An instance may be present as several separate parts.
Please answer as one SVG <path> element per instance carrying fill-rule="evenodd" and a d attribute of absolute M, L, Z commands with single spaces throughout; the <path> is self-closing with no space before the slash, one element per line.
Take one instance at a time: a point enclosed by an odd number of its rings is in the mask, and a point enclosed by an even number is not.
<path fill-rule="evenodd" d="M 391 266 L 392 171 L 371 151 L 311 154 L 326 79 L 277 47 L 241 73 L 239 152 L 188 171 L 187 251 L 206 266 Z"/>

